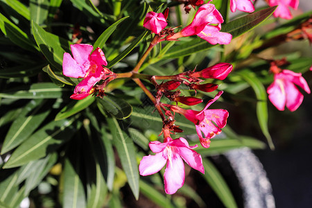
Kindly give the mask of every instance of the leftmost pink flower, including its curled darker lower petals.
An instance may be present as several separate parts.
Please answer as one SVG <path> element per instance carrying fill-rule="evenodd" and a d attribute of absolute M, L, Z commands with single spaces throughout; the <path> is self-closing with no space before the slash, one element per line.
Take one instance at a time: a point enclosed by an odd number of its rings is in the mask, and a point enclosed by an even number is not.
<path fill-rule="evenodd" d="M 71 53 L 64 53 L 63 56 L 63 74 L 72 78 L 83 78 L 76 86 L 71 98 L 81 100 L 89 96 L 92 87 L 105 76 L 108 69 L 103 69 L 107 61 L 100 48 L 95 49 L 89 44 L 71 45 Z M 92 52 L 92 53 L 91 53 Z M 91 53 L 91 54 L 90 54 Z"/>

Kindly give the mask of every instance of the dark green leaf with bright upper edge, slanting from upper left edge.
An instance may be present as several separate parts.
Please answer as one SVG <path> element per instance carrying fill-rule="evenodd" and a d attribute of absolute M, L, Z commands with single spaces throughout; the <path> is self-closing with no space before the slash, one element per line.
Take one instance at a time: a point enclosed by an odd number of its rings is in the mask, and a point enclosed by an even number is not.
<path fill-rule="evenodd" d="M 21 31 L 20 28 L 18 28 L 15 24 L 13 24 L 10 20 L 8 20 L 6 17 L 4 17 L 0 13 L 0 29 L 2 33 L 17 46 L 20 46 L 23 49 L 26 49 L 27 51 L 37 51 L 37 46 L 33 44 L 33 41 L 30 37 L 23 31 Z"/>

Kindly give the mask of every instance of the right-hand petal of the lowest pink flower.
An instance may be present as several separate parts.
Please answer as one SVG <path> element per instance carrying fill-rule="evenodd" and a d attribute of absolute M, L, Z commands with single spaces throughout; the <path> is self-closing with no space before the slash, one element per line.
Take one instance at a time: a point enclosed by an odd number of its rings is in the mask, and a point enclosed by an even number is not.
<path fill-rule="evenodd" d="M 200 171 L 200 173 L 205 174 L 204 166 L 202 165 L 202 156 L 196 153 L 195 150 L 191 150 L 189 148 L 189 144 L 186 139 L 180 137 L 179 139 L 173 140 L 171 145 L 178 146 L 178 154 L 189 166 Z"/>

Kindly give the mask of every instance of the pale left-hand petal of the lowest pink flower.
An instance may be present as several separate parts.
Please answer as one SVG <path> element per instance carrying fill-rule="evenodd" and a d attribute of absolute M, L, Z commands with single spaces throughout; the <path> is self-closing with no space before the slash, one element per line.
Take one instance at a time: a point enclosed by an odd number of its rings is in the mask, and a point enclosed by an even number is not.
<path fill-rule="evenodd" d="M 167 159 L 163 156 L 163 153 L 144 156 L 139 164 L 140 175 L 145 176 L 157 173 L 162 169 L 166 162 Z"/>

